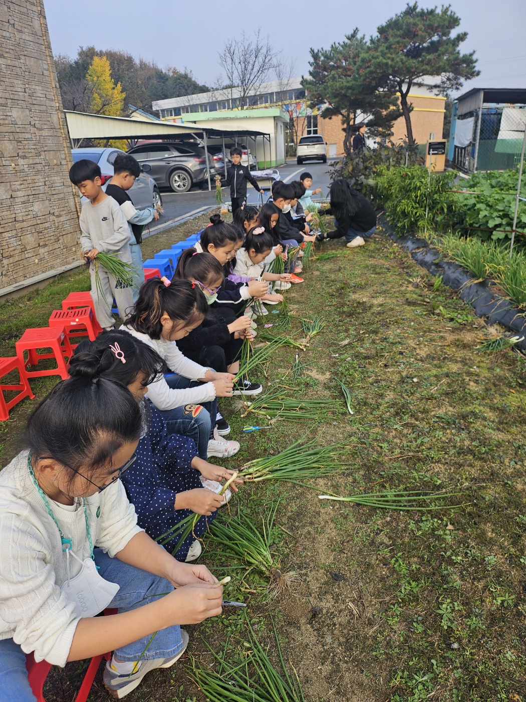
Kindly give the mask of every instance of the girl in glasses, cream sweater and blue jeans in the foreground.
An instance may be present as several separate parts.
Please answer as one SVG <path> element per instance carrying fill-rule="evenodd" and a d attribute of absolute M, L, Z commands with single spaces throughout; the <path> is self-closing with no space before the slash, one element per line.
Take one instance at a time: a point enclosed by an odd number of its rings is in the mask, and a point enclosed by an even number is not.
<path fill-rule="evenodd" d="M 137 527 L 119 477 L 141 433 L 130 391 L 83 373 L 41 402 L 26 449 L 1 471 L 2 701 L 35 702 L 25 654 L 64 666 L 106 651 L 104 685 L 123 698 L 180 658 L 181 624 L 220 614 L 210 571 L 177 562 Z M 118 614 L 97 617 L 106 607 Z"/>

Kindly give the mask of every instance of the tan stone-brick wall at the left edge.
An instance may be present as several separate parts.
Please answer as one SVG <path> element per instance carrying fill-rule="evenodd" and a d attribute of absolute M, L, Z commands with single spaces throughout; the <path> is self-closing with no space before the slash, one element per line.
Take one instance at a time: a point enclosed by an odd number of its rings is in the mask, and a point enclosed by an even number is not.
<path fill-rule="evenodd" d="M 71 163 L 42 2 L 1 2 L 0 292 L 79 259 Z"/>

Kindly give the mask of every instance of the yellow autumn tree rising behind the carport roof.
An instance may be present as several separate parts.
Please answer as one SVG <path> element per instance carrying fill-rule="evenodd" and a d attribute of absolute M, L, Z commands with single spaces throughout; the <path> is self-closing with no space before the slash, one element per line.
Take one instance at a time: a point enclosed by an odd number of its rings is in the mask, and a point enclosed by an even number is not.
<path fill-rule="evenodd" d="M 120 117 L 123 114 L 126 93 L 123 92 L 120 83 L 115 85 L 112 69 L 105 56 L 93 56 L 86 73 L 86 83 L 90 94 L 91 114 L 106 114 L 109 117 Z M 124 140 L 111 140 L 109 143 L 97 140 L 97 145 L 126 150 Z"/>

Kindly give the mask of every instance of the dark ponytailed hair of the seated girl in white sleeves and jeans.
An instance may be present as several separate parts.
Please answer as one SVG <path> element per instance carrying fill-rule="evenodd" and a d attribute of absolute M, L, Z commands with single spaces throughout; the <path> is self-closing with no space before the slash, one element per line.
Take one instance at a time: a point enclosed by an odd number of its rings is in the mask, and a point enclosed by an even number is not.
<path fill-rule="evenodd" d="M 159 339 L 163 329 L 161 317 L 165 312 L 173 320 L 175 331 L 184 324 L 202 320 L 207 310 L 203 294 L 188 280 L 173 280 L 166 286 L 160 278 L 151 278 L 141 286 L 135 310 L 125 324 L 152 339 Z"/>

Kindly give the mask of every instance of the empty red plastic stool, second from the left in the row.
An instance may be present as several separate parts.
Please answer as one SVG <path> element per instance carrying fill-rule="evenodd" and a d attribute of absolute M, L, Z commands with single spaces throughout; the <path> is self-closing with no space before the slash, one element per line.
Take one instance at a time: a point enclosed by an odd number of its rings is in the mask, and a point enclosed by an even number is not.
<path fill-rule="evenodd" d="M 42 326 L 36 329 L 26 329 L 20 340 L 15 344 L 18 360 L 26 369 L 28 378 L 41 376 L 60 376 L 62 380 L 69 378 L 65 356 L 72 357 L 72 347 L 62 326 Z M 50 348 L 51 353 L 38 353 L 37 349 Z M 24 352 L 27 351 L 27 361 Z M 54 358 L 57 367 L 48 371 L 28 371 L 27 366 L 37 366 L 45 358 Z"/>

